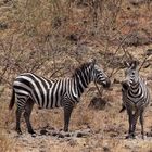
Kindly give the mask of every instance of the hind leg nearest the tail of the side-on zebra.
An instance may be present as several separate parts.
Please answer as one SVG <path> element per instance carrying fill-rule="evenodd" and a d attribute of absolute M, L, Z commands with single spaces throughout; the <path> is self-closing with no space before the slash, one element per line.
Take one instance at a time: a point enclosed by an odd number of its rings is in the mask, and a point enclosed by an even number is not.
<path fill-rule="evenodd" d="M 21 131 L 21 123 L 20 123 L 22 112 L 23 112 L 23 110 L 17 107 L 17 110 L 16 110 L 16 131 L 20 135 L 22 135 L 22 131 Z"/>

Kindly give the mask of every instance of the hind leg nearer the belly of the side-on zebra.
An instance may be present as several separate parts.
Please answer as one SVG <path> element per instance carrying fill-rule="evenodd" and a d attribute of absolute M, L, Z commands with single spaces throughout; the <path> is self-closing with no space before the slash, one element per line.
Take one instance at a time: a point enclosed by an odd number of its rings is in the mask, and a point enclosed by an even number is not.
<path fill-rule="evenodd" d="M 34 106 L 34 101 L 31 99 L 28 99 L 25 105 L 24 118 L 25 118 L 29 134 L 35 134 L 30 124 L 30 114 L 33 111 L 33 106 Z"/>

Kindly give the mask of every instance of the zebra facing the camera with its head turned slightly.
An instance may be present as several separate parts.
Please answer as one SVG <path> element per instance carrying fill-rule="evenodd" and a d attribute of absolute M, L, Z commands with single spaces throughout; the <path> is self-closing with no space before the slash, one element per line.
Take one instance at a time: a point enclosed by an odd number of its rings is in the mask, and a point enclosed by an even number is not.
<path fill-rule="evenodd" d="M 150 93 L 147 81 L 139 76 L 138 62 L 131 61 L 130 63 L 125 62 L 125 64 L 127 66 L 125 71 L 126 79 L 122 81 L 123 107 L 119 112 L 126 109 L 128 114 L 129 130 L 126 139 L 135 138 L 138 118 L 141 124 L 141 136 L 144 139 L 143 114 L 150 102 Z"/>

